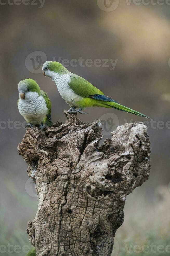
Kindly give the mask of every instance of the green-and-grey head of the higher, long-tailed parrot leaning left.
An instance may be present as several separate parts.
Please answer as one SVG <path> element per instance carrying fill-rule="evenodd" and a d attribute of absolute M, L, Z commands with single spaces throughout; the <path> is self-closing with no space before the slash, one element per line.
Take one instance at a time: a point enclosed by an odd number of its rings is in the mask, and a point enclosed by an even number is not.
<path fill-rule="evenodd" d="M 62 73 L 67 70 L 67 68 L 63 67 L 63 65 L 60 62 L 57 61 L 46 61 L 43 64 L 43 75 L 44 77 L 50 77 L 51 79 L 54 78 L 54 75 L 56 73 Z"/>

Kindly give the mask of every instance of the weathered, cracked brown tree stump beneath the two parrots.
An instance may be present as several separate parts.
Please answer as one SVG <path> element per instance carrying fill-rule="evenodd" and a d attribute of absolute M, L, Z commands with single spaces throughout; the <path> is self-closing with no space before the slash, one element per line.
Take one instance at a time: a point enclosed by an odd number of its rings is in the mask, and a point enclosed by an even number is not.
<path fill-rule="evenodd" d="M 126 196 L 149 176 L 147 127 L 119 126 L 99 147 L 100 120 L 64 114 L 59 127 L 27 129 L 18 146 L 39 197 L 29 239 L 37 256 L 109 256 Z"/>

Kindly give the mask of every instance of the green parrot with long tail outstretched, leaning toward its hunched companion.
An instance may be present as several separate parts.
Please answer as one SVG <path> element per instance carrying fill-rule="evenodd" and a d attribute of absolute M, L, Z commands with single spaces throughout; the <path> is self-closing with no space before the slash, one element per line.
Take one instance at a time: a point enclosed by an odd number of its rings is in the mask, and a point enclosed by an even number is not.
<path fill-rule="evenodd" d="M 148 118 L 146 115 L 122 106 L 112 98 L 105 96 L 102 91 L 94 87 L 84 78 L 69 72 L 59 62 L 46 61 L 43 65 L 43 75 L 55 81 L 60 95 L 71 107 L 69 113 L 79 112 L 81 114 L 87 114 L 82 112 L 82 109 L 97 106 L 115 108 Z"/>

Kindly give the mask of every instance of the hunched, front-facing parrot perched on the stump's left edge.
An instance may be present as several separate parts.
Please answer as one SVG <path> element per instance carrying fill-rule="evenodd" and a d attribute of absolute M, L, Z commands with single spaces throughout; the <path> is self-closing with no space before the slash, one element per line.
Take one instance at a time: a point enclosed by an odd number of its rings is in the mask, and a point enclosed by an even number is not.
<path fill-rule="evenodd" d="M 53 126 L 51 121 L 51 102 L 46 92 L 41 91 L 38 84 L 32 79 L 25 79 L 18 84 L 19 113 L 27 121 L 26 127 L 33 128 L 40 125 L 43 130 L 46 126 Z"/>

